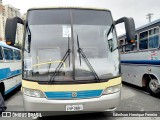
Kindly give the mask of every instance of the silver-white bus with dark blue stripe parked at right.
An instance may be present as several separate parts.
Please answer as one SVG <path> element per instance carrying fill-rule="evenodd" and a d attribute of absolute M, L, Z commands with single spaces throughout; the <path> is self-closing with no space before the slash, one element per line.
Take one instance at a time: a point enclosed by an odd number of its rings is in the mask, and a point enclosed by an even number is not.
<path fill-rule="evenodd" d="M 121 49 L 123 81 L 160 96 L 160 19 L 136 29 L 136 42 Z M 119 44 L 126 44 L 126 36 Z"/>

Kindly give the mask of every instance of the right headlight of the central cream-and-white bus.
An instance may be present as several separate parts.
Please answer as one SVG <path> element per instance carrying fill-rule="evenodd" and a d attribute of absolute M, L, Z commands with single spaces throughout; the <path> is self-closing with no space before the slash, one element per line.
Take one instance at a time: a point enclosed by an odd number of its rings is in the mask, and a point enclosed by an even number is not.
<path fill-rule="evenodd" d="M 120 89 L 121 89 L 121 84 L 115 85 L 112 87 L 108 87 L 103 90 L 103 95 L 116 93 L 116 92 L 120 91 Z"/>

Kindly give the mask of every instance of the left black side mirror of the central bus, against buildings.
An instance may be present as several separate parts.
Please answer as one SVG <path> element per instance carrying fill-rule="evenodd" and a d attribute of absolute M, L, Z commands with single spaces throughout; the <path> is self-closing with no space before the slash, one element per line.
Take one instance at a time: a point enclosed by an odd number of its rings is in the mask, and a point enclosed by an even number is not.
<path fill-rule="evenodd" d="M 5 26 L 6 43 L 14 45 L 16 40 L 17 23 L 24 25 L 24 21 L 19 17 L 7 18 Z"/>

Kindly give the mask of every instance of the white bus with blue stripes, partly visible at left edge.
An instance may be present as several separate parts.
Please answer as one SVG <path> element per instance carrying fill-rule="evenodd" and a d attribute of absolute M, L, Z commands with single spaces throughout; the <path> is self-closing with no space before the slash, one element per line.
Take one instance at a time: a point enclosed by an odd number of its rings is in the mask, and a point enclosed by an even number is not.
<path fill-rule="evenodd" d="M 0 92 L 7 95 L 21 86 L 21 52 L 0 42 Z"/>

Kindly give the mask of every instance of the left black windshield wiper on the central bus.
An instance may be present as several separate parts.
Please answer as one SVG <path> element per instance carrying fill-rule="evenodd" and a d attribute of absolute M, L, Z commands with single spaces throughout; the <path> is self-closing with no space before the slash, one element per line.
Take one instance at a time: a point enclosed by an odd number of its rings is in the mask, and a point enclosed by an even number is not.
<path fill-rule="evenodd" d="M 54 81 L 55 77 L 57 76 L 57 74 L 59 73 L 61 67 L 63 66 L 64 62 L 66 61 L 66 59 L 69 56 L 69 66 L 70 66 L 70 53 L 71 53 L 71 49 L 70 49 L 70 42 L 69 42 L 69 37 L 68 37 L 68 50 L 66 51 L 65 55 L 63 56 L 62 60 L 63 62 L 60 62 L 57 66 L 57 68 L 55 69 L 54 73 L 51 76 L 51 79 L 49 80 L 48 83 L 51 83 L 52 81 Z"/>

